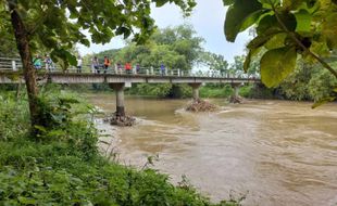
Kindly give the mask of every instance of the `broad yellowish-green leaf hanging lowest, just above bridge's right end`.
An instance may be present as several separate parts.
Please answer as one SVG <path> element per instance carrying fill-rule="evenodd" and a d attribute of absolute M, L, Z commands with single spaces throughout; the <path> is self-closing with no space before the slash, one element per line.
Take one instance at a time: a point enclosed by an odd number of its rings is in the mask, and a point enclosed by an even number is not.
<path fill-rule="evenodd" d="M 296 67 L 295 48 L 278 48 L 267 51 L 261 59 L 261 80 L 271 88 L 280 83 Z"/>

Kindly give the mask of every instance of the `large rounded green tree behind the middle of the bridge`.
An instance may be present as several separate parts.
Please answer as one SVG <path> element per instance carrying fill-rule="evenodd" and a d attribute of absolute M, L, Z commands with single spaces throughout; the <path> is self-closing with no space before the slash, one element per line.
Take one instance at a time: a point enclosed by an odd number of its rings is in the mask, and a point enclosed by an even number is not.
<path fill-rule="evenodd" d="M 163 63 L 166 68 L 189 70 L 200 59 L 202 38 L 196 36 L 190 25 L 179 25 L 157 29 L 146 44 L 128 42 L 121 50 L 109 50 L 97 54 L 99 59 L 104 55 L 113 61 L 140 64 L 141 67 L 154 67 Z"/>

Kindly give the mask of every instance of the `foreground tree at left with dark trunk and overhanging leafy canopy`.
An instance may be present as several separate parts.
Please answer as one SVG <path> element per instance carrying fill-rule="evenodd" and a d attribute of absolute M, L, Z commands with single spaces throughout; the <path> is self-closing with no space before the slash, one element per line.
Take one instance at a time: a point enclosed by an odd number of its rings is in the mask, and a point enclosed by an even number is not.
<path fill-rule="evenodd" d="M 175 3 L 187 15 L 196 4 L 194 0 L 0 0 L 0 26 L 11 23 L 8 33 L 15 36 L 22 59 L 32 126 L 42 124 L 32 63 L 36 46 L 50 48 L 53 61 L 61 59 L 65 66 L 75 65 L 76 57 L 67 49 L 77 42 L 89 46 L 83 30 L 88 30 L 95 43 L 109 42 L 118 35 L 127 38 L 132 34 L 135 41 L 143 42 L 154 30 L 150 4 L 162 7 L 167 2 Z"/>

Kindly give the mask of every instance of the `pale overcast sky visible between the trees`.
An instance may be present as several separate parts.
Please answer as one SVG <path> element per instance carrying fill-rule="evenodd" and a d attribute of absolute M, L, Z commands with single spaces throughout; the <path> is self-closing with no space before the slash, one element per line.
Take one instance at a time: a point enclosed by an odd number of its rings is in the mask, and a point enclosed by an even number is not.
<path fill-rule="evenodd" d="M 246 42 L 249 40 L 247 33 L 240 34 L 235 43 L 226 41 L 224 35 L 224 20 L 226 8 L 222 0 L 197 0 L 192 15 L 188 18 L 183 17 L 179 9 L 174 4 L 167 4 L 163 8 L 152 8 L 152 17 L 160 28 L 191 24 L 197 30 L 197 36 L 202 37 L 205 42 L 205 50 L 213 53 L 223 54 L 228 62 L 233 62 L 235 55 L 244 54 Z M 110 43 L 93 44 L 90 48 L 78 46 L 79 52 L 84 54 L 97 53 L 100 51 L 122 48 L 124 46 L 122 38 L 114 38 Z"/>

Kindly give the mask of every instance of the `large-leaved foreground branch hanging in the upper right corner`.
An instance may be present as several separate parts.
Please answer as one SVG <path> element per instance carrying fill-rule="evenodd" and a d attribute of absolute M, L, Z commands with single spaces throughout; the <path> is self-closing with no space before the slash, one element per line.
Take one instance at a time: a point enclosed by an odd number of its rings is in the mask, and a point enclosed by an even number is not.
<path fill-rule="evenodd" d="M 245 62 L 265 50 L 261 78 L 276 87 L 296 68 L 298 56 L 319 62 L 337 78 L 337 72 L 323 57 L 337 48 L 337 2 L 335 0 L 223 0 L 229 5 L 225 35 L 234 42 L 237 35 L 255 25 L 257 37 L 247 46 Z M 336 87 L 336 86 L 334 86 Z"/>

